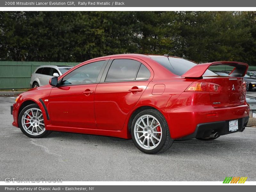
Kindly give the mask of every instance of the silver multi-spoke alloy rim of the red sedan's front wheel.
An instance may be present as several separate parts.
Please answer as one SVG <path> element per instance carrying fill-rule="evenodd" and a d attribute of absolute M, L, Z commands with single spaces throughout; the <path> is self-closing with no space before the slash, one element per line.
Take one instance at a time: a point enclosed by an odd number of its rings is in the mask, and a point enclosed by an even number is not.
<path fill-rule="evenodd" d="M 30 135 L 40 135 L 45 132 L 42 111 L 38 108 L 30 108 L 21 118 L 23 129 Z"/>

